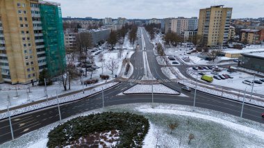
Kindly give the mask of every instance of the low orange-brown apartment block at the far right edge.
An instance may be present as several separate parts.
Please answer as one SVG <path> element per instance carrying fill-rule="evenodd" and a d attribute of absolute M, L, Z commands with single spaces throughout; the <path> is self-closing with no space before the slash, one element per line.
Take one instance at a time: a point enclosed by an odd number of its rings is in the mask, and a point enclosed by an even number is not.
<path fill-rule="evenodd" d="M 264 42 L 264 29 L 241 29 L 240 41 L 247 44 L 260 44 Z"/>

